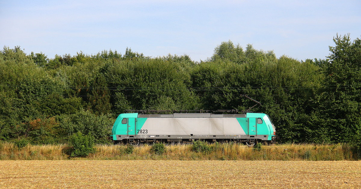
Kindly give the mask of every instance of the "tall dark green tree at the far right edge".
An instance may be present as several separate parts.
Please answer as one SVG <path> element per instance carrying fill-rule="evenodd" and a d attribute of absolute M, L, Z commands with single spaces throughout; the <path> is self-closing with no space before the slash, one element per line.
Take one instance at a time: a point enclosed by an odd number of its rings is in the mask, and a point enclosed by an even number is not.
<path fill-rule="evenodd" d="M 321 94 L 313 112 L 314 130 L 309 138 L 315 142 L 356 142 L 361 134 L 361 40 L 348 35 L 334 37 Z"/>

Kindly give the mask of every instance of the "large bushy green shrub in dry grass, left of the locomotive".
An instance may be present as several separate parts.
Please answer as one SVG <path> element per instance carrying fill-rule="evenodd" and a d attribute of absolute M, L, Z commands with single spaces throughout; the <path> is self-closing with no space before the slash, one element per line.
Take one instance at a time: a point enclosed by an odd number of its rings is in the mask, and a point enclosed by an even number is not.
<path fill-rule="evenodd" d="M 73 146 L 71 157 L 86 157 L 89 153 L 94 153 L 94 138 L 83 135 L 81 132 L 74 133 L 70 137 L 70 144 Z"/>

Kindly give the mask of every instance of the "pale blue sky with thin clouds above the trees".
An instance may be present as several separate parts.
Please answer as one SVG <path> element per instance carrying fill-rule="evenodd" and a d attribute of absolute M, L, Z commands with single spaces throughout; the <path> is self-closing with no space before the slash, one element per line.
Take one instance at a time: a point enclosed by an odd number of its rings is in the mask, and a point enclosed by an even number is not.
<path fill-rule="evenodd" d="M 126 47 L 145 56 L 212 56 L 222 41 L 277 57 L 324 59 L 332 38 L 361 36 L 361 1 L 5 1 L 0 45 L 76 55 Z"/>

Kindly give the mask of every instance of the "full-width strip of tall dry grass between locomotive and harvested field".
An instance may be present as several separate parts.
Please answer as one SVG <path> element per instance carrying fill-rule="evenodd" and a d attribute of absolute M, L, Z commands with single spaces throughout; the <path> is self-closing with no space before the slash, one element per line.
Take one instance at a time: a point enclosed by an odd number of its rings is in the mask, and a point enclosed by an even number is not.
<path fill-rule="evenodd" d="M 166 145 L 166 152 L 156 155 L 151 145 L 135 146 L 131 154 L 125 145 L 96 145 L 96 152 L 86 158 L 70 158 L 71 147 L 31 145 L 18 149 L 13 143 L 0 143 L 0 160 L 357 160 L 354 148 L 347 144 L 278 144 L 260 150 L 243 144 L 210 144 L 210 152 L 194 152 L 192 144 Z M 129 151 L 128 151 L 129 152 Z"/>

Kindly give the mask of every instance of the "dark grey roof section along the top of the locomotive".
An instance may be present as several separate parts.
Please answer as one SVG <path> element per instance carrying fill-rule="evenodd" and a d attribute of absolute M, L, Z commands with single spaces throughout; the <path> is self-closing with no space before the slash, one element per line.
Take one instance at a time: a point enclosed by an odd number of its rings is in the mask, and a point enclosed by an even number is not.
<path fill-rule="evenodd" d="M 138 117 L 246 117 L 245 114 L 210 113 L 174 113 L 174 114 L 138 114 Z"/>

